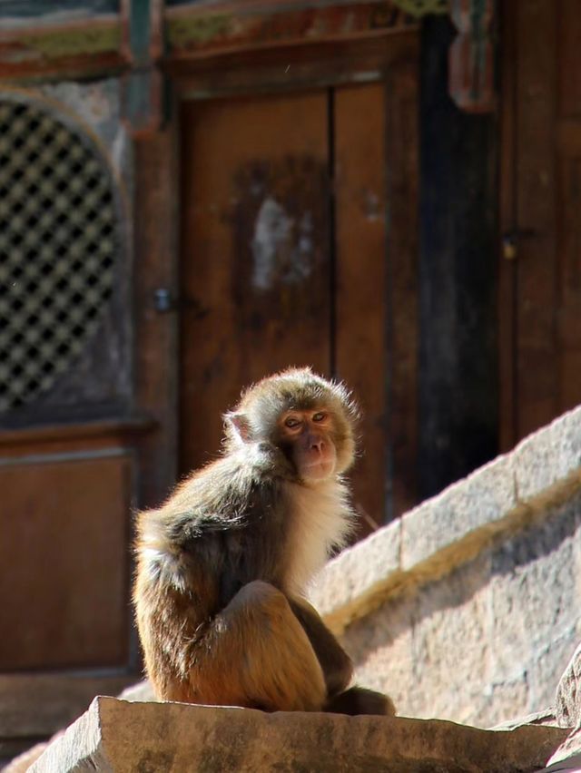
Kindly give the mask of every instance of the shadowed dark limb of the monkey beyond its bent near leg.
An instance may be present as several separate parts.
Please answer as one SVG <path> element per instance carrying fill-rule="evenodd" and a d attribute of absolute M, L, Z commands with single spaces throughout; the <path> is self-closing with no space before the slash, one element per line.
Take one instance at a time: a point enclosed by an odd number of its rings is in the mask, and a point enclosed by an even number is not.
<path fill-rule="evenodd" d="M 292 612 L 309 637 L 325 676 L 327 694 L 332 698 L 345 690 L 350 683 L 353 673 L 350 657 L 309 602 L 304 599 L 289 598 L 289 603 Z"/>

